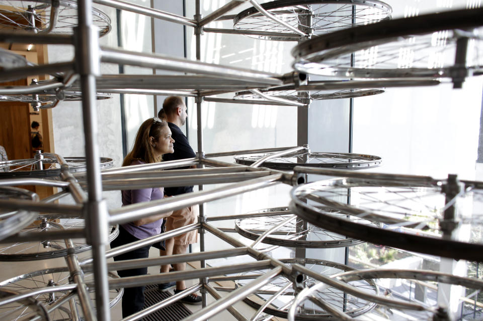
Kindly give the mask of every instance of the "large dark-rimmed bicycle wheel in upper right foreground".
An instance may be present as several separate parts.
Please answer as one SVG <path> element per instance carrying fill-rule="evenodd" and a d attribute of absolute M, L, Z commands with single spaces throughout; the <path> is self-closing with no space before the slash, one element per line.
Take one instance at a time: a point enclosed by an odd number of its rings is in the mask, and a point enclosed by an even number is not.
<path fill-rule="evenodd" d="M 337 31 L 294 47 L 293 67 L 343 78 L 461 80 L 483 68 L 483 30 L 461 31 L 482 26 L 481 16 L 483 8 L 459 10 Z"/>

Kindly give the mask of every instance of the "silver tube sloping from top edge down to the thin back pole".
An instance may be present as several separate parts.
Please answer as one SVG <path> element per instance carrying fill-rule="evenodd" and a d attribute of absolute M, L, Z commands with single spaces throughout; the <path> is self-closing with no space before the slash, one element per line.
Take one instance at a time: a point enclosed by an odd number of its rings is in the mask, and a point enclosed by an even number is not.
<path fill-rule="evenodd" d="M 104 5 L 104 6 L 109 6 L 113 7 L 116 9 L 121 9 L 124 11 L 129 11 L 133 12 L 136 14 L 148 16 L 151 18 L 156 18 L 156 19 L 161 19 L 169 22 L 174 22 L 177 24 L 182 24 L 185 26 L 190 26 L 190 27 L 196 27 L 196 21 L 192 19 L 188 19 L 183 16 L 178 16 L 172 13 L 164 12 L 161 10 L 157 9 L 152 9 L 152 8 L 147 8 L 147 7 L 142 7 L 138 5 L 134 5 L 131 3 L 127 3 L 124 1 L 119 1 L 119 0 L 93 0 L 94 3 Z"/>

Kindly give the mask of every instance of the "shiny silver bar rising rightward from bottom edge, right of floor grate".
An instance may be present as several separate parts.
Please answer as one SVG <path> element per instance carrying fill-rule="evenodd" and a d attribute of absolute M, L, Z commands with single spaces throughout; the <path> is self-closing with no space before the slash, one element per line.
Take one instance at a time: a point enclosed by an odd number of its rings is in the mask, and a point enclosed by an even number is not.
<path fill-rule="evenodd" d="M 263 261 L 262 261 L 263 262 Z M 214 303 L 208 305 L 204 309 L 201 309 L 187 318 L 184 321 L 204 321 L 213 315 L 219 313 L 223 309 L 232 306 L 234 303 L 243 300 L 248 295 L 252 294 L 256 290 L 268 284 L 273 278 L 282 272 L 281 267 L 276 267 L 273 270 L 267 271 L 265 274 L 260 276 L 258 279 L 240 287 L 233 292 L 229 293 L 225 297 L 216 300 Z"/>

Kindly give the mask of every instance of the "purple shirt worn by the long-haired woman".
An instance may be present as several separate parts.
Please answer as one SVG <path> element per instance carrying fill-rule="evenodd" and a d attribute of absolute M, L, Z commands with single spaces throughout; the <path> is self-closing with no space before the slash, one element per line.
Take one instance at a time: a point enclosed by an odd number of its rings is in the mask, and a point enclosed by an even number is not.
<path fill-rule="evenodd" d="M 139 160 L 133 160 L 131 165 L 145 164 Z M 122 205 L 129 205 L 140 202 L 148 202 L 150 200 L 162 199 L 164 196 L 163 187 L 130 189 L 121 191 Z M 158 235 L 161 233 L 161 225 L 163 219 L 148 224 L 136 226 L 133 223 L 121 224 L 121 226 L 135 238 L 140 240 Z"/>

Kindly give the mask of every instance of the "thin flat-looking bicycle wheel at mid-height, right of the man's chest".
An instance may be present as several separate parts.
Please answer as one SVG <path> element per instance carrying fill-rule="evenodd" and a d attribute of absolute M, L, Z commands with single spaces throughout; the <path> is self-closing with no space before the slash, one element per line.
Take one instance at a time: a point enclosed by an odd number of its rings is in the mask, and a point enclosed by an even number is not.
<path fill-rule="evenodd" d="M 252 165 L 267 154 L 255 154 L 237 156 L 235 161 L 238 164 Z M 305 158 L 307 159 L 305 161 Z M 378 156 L 354 154 L 354 153 L 323 153 L 308 152 L 302 150 L 286 154 L 281 157 L 272 158 L 262 163 L 261 166 L 279 170 L 293 170 L 297 165 L 308 167 L 330 167 L 346 169 L 372 168 L 381 165 L 382 159 Z"/>

